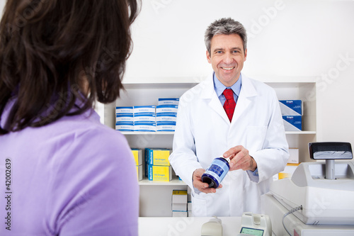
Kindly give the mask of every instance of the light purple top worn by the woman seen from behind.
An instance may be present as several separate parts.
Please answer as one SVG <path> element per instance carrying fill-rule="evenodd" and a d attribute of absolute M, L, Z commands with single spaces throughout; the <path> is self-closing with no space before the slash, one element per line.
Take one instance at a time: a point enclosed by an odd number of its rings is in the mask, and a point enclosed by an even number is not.
<path fill-rule="evenodd" d="M 0 135 L 0 191 L 0 235 L 137 235 L 132 152 L 93 109 Z"/>

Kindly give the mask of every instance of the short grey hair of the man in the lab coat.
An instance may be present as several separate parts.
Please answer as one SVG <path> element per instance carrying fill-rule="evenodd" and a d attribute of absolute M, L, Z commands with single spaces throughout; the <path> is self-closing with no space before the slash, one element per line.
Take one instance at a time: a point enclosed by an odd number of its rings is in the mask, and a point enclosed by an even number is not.
<path fill-rule="evenodd" d="M 234 21 L 234 19 L 232 18 L 221 18 L 211 23 L 207 30 L 205 30 L 204 37 L 205 46 L 207 46 L 207 51 L 209 52 L 209 54 L 212 37 L 214 37 L 215 35 L 231 35 L 234 33 L 241 37 L 241 40 L 244 43 L 245 52 L 247 48 L 246 29 L 241 23 L 239 23 L 239 21 Z"/>

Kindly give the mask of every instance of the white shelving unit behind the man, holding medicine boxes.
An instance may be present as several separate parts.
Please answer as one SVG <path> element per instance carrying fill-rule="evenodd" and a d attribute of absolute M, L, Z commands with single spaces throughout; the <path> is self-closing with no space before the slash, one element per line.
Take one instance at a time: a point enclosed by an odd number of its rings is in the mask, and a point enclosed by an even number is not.
<path fill-rule="evenodd" d="M 301 99 L 304 116 L 303 131 L 287 131 L 290 147 L 299 148 L 299 161 L 310 162 L 308 142 L 316 141 L 316 79 L 315 77 L 251 77 L 275 89 L 279 100 Z M 116 103 L 104 106 L 105 125 L 115 128 L 115 106 L 156 105 L 159 98 L 180 97 L 205 77 L 126 78 L 125 91 Z M 173 132 L 122 132 L 130 147 L 172 149 Z M 171 216 L 173 189 L 187 189 L 183 181 L 157 182 L 143 179 L 140 186 L 140 216 Z"/>

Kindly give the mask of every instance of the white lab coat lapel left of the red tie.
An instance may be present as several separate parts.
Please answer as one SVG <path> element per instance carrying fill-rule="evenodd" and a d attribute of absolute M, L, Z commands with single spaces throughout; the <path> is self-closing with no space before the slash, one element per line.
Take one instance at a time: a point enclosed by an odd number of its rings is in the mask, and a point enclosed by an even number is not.
<path fill-rule="evenodd" d="M 201 98 L 209 100 L 208 105 L 210 106 L 210 108 L 212 108 L 212 110 L 214 110 L 227 123 L 229 123 L 229 118 L 227 118 L 227 114 L 224 111 L 224 108 L 222 107 L 222 104 L 220 103 L 220 100 L 215 92 L 212 75 L 205 79 L 205 81 L 202 83 L 204 83 L 204 88 L 202 89 L 202 93 L 200 94 Z"/>

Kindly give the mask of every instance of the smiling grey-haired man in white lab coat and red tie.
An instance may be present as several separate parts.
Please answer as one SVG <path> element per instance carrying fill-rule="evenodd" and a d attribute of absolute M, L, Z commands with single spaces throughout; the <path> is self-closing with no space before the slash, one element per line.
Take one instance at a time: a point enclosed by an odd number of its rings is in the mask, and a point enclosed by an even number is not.
<path fill-rule="evenodd" d="M 194 216 L 261 213 L 260 196 L 289 157 L 275 91 L 241 74 L 246 42 L 241 23 L 212 23 L 205 45 L 214 73 L 180 99 L 170 162 L 192 189 Z M 222 187 L 212 189 L 200 176 L 222 154 L 231 159 L 230 171 Z"/>

